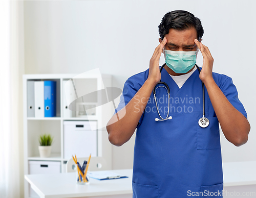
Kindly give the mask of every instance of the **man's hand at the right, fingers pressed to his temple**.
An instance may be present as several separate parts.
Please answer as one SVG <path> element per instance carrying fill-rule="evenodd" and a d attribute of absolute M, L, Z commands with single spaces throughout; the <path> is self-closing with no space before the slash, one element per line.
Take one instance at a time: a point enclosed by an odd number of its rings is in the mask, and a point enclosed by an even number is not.
<path fill-rule="evenodd" d="M 203 81 L 203 83 L 205 83 L 205 81 L 212 79 L 212 67 L 214 65 L 214 58 L 212 58 L 207 46 L 203 45 L 202 42 L 199 42 L 197 39 L 194 41 L 203 55 L 204 62 L 199 78 L 201 81 Z"/>

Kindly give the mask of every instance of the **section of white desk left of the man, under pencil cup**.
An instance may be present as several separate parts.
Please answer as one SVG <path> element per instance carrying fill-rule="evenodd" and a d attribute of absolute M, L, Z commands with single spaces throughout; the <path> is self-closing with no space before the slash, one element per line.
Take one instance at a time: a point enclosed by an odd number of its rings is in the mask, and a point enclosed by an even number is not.
<path fill-rule="evenodd" d="M 45 198 L 132 194 L 132 169 L 111 171 L 129 178 L 102 181 L 91 178 L 88 185 L 76 184 L 75 172 L 25 175 L 25 179 L 40 197 Z"/>

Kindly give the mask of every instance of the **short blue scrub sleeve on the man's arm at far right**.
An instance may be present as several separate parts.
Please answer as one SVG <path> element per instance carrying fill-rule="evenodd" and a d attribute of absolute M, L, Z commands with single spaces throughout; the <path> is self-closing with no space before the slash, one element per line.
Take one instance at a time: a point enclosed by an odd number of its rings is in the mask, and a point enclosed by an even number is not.
<path fill-rule="evenodd" d="M 236 86 L 233 84 L 232 79 L 226 76 L 226 79 L 223 80 L 224 81 L 223 83 L 221 83 L 220 89 L 227 97 L 228 101 L 233 105 L 233 107 L 240 111 L 247 118 L 247 113 L 244 109 L 243 104 L 240 102 L 238 98 L 238 91 Z"/>

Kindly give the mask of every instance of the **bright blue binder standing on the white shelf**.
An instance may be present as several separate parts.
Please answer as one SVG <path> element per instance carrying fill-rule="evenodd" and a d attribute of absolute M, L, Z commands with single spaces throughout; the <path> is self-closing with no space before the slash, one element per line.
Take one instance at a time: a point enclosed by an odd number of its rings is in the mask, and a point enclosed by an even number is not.
<path fill-rule="evenodd" d="M 56 82 L 45 81 L 44 83 L 45 117 L 56 116 Z"/>

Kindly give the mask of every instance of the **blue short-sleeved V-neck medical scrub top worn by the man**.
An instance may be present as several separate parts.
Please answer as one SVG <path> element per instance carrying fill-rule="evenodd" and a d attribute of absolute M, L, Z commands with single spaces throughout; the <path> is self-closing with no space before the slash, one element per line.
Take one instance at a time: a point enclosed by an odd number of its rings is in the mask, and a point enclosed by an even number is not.
<path fill-rule="evenodd" d="M 246 118 L 232 79 L 212 73 L 228 101 Z M 134 97 L 148 77 L 148 69 L 127 79 L 115 112 Z M 209 126 L 198 125 L 202 117 L 202 82 L 196 70 L 181 89 L 163 68 L 161 81 L 170 88 L 169 116 L 160 118 L 151 94 L 137 126 L 134 146 L 133 198 L 222 197 L 223 174 L 219 121 L 205 88 L 205 116 Z M 161 85 L 159 85 L 161 86 Z M 167 115 L 166 89 L 157 89 L 160 114 Z"/>

